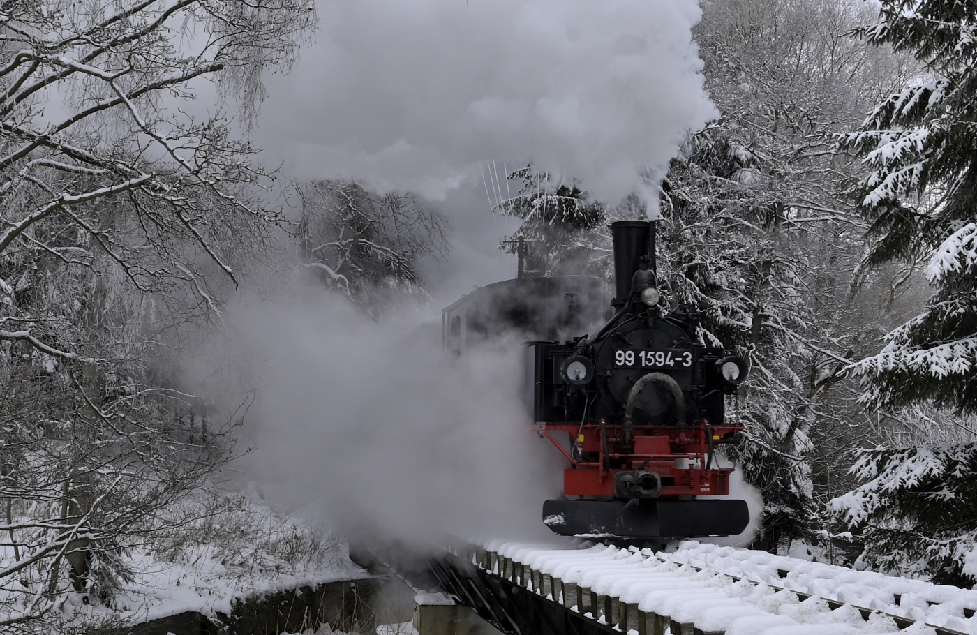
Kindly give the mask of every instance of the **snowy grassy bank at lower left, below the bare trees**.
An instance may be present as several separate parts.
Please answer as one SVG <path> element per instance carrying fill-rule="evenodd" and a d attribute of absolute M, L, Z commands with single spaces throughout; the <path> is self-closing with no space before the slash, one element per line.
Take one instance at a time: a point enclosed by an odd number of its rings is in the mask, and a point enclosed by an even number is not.
<path fill-rule="evenodd" d="M 120 554 L 130 579 L 121 580 L 110 601 L 67 591 L 44 621 L 54 627 L 133 624 L 185 612 L 215 617 L 230 614 L 235 600 L 369 576 L 349 559 L 345 543 L 254 496 L 185 516 L 196 520 Z M 4 618 L 36 614 L 39 594 L 30 586 L 0 589 Z"/>

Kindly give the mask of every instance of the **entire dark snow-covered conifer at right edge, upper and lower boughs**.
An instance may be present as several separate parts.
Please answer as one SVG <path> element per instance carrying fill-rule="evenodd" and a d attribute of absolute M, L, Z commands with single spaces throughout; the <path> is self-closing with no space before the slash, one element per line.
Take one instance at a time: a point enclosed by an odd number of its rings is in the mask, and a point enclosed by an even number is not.
<path fill-rule="evenodd" d="M 875 407 L 977 412 L 977 5 L 883 0 L 868 42 L 911 53 L 924 72 L 883 100 L 843 146 L 871 173 L 855 191 L 871 221 L 868 264 L 927 259 L 935 293 L 852 370 Z M 868 483 L 832 501 L 874 566 L 973 582 L 977 445 L 864 453 Z"/>

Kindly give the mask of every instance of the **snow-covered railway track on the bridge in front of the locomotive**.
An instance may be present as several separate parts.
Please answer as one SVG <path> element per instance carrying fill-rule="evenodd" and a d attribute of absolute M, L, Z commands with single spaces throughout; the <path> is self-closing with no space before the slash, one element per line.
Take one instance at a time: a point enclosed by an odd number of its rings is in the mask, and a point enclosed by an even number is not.
<path fill-rule="evenodd" d="M 541 601 L 638 635 L 977 635 L 977 591 L 762 551 L 493 541 L 467 557 Z"/>

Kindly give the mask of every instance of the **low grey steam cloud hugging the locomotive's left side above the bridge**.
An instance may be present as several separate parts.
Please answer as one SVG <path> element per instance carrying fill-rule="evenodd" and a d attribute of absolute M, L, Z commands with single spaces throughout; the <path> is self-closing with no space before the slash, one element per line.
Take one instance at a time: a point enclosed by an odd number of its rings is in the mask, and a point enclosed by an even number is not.
<path fill-rule="evenodd" d="M 241 467 L 270 500 L 352 538 L 551 535 L 561 462 L 524 405 L 523 346 L 450 358 L 440 323 L 372 322 L 338 296 L 230 321 L 248 343 L 231 365 L 260 386 Z"/>

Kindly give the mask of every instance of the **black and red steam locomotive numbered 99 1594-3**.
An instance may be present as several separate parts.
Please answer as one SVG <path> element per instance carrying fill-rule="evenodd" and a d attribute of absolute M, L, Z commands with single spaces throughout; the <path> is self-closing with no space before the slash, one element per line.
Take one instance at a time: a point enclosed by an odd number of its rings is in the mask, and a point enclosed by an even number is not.
<path fill-rule="evenodd" d="M 746 361 L 697 343 L 692 306 L 662 309 L 653 222 L 611 231 L 609 308 L 598 277 L 488 284 L 444 310 L 446 349 L 461 354 L 513 329 L 530 339 L 528 405 L 540 436 L 569 462 L 563 497 L 543 504 L 549 529 L 629 541 L 740 533 L 746 503 L 715 497 L 729 494 L 733 470 L 714 453 L 741 431 L 723 410 Z"/>

